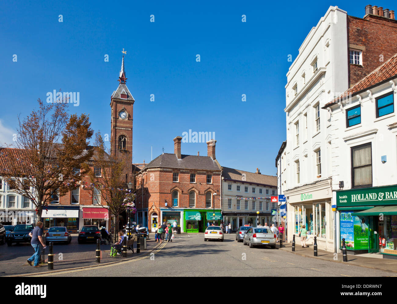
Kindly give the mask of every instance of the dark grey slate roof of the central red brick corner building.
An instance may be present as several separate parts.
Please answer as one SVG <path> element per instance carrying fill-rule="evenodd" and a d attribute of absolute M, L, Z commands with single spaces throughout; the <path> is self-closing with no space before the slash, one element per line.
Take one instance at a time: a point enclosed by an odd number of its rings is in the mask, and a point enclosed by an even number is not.
<path fill-rule="evenodd" d="M 181 159 L 178 160 L 176 154 L 164 153 L 157 156 L 145 168 L 166 167 L 178 169 L 198 169 L 198 170 L 213 170 L 220 171 L 220 167 L 215 160 L 209 156 L 196 156 L 182 154 Z"/>

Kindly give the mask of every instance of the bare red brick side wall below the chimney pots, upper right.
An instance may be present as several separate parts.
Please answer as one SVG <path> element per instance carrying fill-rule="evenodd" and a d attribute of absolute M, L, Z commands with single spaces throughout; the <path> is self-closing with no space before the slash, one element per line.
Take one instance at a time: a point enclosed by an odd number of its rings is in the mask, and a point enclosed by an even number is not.
<path fill-rule="evenodd" d="M 352 87 L 397 53 L 397 21 L 376 15 L 366 15 L 364 19 L 347 16 L 347 31 L 347 45 L 362 48 L 362 66 L 350 64 L 348 50 L 349 87 Z"/>

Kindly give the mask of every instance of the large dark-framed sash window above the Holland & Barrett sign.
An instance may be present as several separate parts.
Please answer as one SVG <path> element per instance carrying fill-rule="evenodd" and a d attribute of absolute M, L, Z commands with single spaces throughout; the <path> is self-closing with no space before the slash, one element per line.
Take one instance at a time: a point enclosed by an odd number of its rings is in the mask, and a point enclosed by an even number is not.
<path fill-rule="evenodd" d="M 353 188 L 372 187 L 372 145 L 351 148 Z"/>

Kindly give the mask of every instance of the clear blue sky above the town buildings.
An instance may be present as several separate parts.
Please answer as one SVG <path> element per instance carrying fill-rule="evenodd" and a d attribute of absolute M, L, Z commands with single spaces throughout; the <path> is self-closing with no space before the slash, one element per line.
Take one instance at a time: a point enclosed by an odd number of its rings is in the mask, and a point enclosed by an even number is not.
<path fill-rule="evenodd" d="M 110 95 L 124 48 L 127 86 L 135 98 L 134 163 L 148 163 L 151 147 L 153 158 L 162 147 L 173 153 L 173 138 L 191 129 L 215 133 L 221 165 L 276 175 L 274 160 L 286 139 L 288 54 L 296 58 L 329 6 L 363 17 L 366 4 L 3 2 L 0 141 L 12 141 L 18 114 L 26 116 L 37 98 L 46 100 L 47 92 L 59 89 L 80 92 L 70 113 L 89 113 L 93 129 L 110 134 Z M 397 10 L 392 1 L 371 4 Z M 247 22 L 241 22 L 243 14 Z M 182 154 L 206 150 L 205 143 L 182 143 Z"/>

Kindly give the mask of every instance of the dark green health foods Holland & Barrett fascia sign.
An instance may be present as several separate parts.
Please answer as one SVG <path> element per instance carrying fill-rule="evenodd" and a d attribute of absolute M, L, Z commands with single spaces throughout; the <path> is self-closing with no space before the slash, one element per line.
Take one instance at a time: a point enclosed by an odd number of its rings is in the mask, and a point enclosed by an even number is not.
<path fill-rule="evenodd" d="M 337 206 L 397 205 L 397 186 L 336 192 Z"/>

